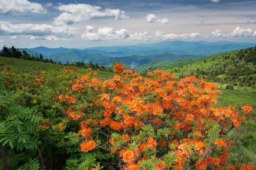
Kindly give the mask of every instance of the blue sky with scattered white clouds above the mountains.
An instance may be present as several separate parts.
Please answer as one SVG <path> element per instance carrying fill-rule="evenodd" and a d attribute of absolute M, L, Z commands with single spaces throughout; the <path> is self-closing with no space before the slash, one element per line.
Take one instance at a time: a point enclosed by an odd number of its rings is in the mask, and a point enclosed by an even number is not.
<path fill-rule="evenodd" d="M 256 44 L 256 0 L 1 0 L 0 48 Z"/>

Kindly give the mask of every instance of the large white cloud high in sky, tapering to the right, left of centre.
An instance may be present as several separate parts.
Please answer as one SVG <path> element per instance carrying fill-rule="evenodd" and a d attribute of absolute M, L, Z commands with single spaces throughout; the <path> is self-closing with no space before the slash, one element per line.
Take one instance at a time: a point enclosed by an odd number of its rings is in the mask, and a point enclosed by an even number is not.
<path fill-rule="evenodd" d="M 100 6 L 92 6 L 87 4 L 69 4 L 56 7 L 61 13 L 54 19 L 54 24 L 73 24 L 90 20 L 91 18 L 114 16 L 115 20 L 128 19 L 129 16 L 124 11 L 118 9 L 111 10 L 109 8 L 102 9 Z"/>

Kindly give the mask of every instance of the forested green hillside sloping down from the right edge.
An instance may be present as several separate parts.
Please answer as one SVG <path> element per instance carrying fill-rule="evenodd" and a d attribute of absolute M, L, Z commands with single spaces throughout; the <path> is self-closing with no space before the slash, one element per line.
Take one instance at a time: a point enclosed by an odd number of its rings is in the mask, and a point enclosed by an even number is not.
<path fill-rule="evenodd" d="M 207 81 L 223 84 L 229 89 L 255 89 L 256 47 L 214 54 L 198 59 L 176 62 L 156 61 L 139 67 L 140 73 L 157 69 L 169 70 L 185 77 L 195 75 Z"/>

